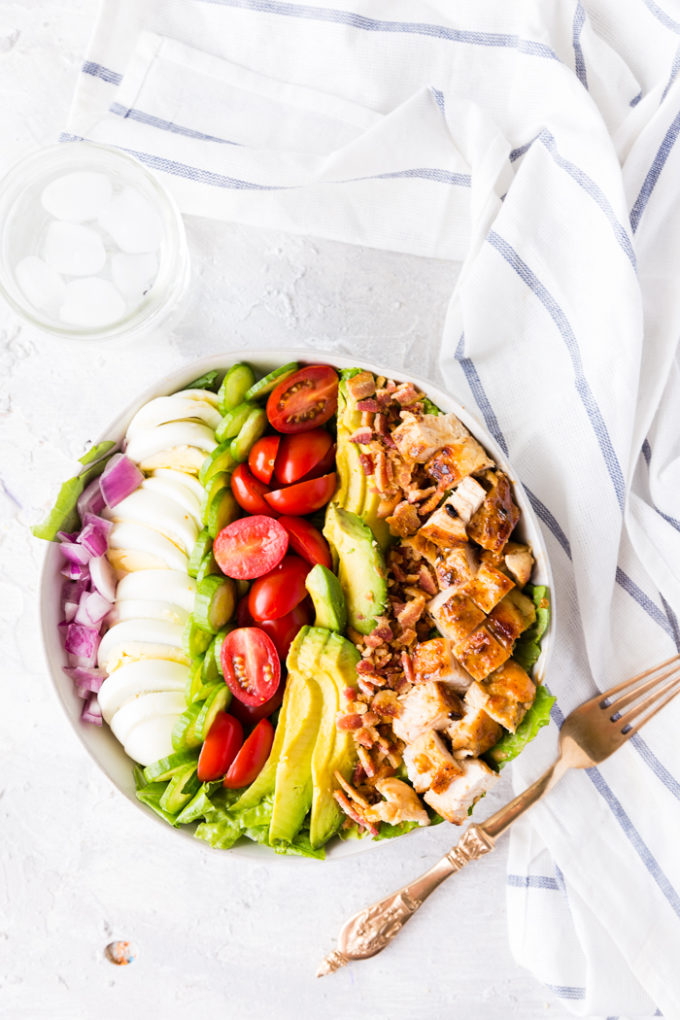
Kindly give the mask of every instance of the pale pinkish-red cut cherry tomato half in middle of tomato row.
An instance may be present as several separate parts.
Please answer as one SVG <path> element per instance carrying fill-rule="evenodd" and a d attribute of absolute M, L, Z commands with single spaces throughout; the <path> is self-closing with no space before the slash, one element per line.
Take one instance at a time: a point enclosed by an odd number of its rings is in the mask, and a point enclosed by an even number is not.
<path fill-rule="evenodd" d="M 272 517 L 241 517 L 223 527 L 212 547 L 217 566 L 227 577 L 251 580 L 280 563 L 289 532 Z"/>

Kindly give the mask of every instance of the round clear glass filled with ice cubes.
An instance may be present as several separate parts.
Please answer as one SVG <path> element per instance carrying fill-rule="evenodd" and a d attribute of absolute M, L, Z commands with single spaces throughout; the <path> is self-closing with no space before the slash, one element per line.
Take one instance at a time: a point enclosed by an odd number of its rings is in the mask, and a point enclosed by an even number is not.
<path fill-rule="evenodd" d="M 40 149 L 0 181 L 0 294 L 68 340 L 129 340 L 176 308 L 189 282 L 181 215 L 118 149 Z"/>

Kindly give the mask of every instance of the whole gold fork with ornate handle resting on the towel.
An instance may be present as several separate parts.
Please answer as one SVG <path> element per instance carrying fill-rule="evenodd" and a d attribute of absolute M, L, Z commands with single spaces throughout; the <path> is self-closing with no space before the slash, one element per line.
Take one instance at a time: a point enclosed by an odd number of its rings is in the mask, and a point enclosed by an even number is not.
<path fill-rule="evenodd" d="M 470 825 L 458 844 L 415 881 L 355 914 L 341 930 L 337 949 L 325 958 L 316 976 L 323 977 L 352 960 L 380 953 L 444 878 L 493 850 L 499 836 L 552 789 L 568 769 L 591 768 L 605 761 L 677 694 L 680 655 L 575 708 L 562 725 L 560 753 L 547 771 L 485 822 Z M 629 710 L 622 715 L 625 709 Z"/>

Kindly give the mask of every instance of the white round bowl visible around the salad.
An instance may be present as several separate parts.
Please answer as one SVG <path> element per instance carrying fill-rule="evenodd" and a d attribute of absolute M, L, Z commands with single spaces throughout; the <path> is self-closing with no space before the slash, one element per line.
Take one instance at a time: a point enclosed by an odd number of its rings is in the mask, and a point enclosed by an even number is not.
<path fill-rule="evenodd" d="M 327 354 L 323 351 L 311 352 L 309 350 L 283 350 L 276 352 L 276 355 L 273 355 L 270 351 L 229 351 L 223 355 L 211 354 L 199 359 L 198 361 L 192 362 L 185 368 L 180 368 L 177 371 L 164 376 L 153 387 L 146 390 L 133 404 L 130 404 L 121 414 L 118 415 L 117 418 L 111 422 L 111 424 L 99 438 L 98 442 L 101 442 L 102 440 L 122 439 L 127 427 L 127 423 L 130 421 L 133 415 L 139 410 L 140 407 L 142 407 L 143 404 L 146 404 L 147 401 L 151 400 L 153 397 L 174 393 L 176 390 L 180 390 L 188 382 L 191 382 L 192 379 L 198 378 L 199 375 L 202 375 L 211 368 L 227 368 L 230 364 L 241 360 L 248 361 L 249 364 L 253 365 L 255 369 L 261 371 L 262 373 L 269 372 L 278 365 L 285 364 L 287 361 L 306 361 L 307 363 L 314 364 L 327 363 L 334 365 L 337 368 L 350 368 L 357 366 L 367 368 L 376 375 L 386 375 L 387 377 L 393 377 L 393 373 L 389 369 L 383 366 L 358 361 L 353 358 L 342 357 L 336 354 Z M 415 382 L 415 385 L 427 394 L 430 400 L 432 400 L 443 411 L 453 411 L 457 414 L 461 421 L 463 421 L 472 435 L 479 440 L 482 446 L 493 457 L 496 464 L 513 481 L 515 500 L 522 511 L 520 524 L 518 525 L 518 533 L 530 544 L 535 557 L 532 581 L 536 584 L 547 585 L 547 589 L 551 592 L 551 625 L 543 635 L 540 658 L 534 667 L 534 675 L 542 677 L 545 675 L 545 669 L 553 647 L 553 635 L 555 633 L 555 584 L 538 521 L 527 499 L 526 493 L 524 492 L 519 479 L 515 476 L 512 467 L 509 465 L 496 442 L 491 436 L 489 436 L 484 426 L 481 425 L 462 404 L 459 404 L 458 401 L 456 401 L 449 394 L 443 393 L 443 391 L 438 390 L 436 387 L 424 379 L 411 375 L 411 373 L 409 373 L 408 376 L 403 372 L 397 372 L 394 375 L 395 378 L 400 378 L 401 376 L 409 378 Z M 135 796 L 135 781 L 133 778 L 134 763 L 132 762 L 132 759 L 125 755 L 122 747 L 115 740 L 108 726 L 103 725 L 98 727 L 81 722 L 80 716 L 83 702 L 80 698 L 77 698 L 73 692 L 71 681 L 62 671 L 62 666 L 66 665 L 66 655 L 62 648 L 59 631 L 57 629 L 57 624 L 59 623 L 62 614 L 61 590 L 63 585 L 63 577 L 60 573 L 62 565 L 63 560 L 59 553 L 58 545 L 50 543 L 45 555 L 41 578 L 40 601 L 42 634 L 43 646 L 52 682 L 54 683 L 59 700 L 71 722 L 73 729 L 75 730 L 75 733 L 92 758 L 95 762 L 97 762 L 114 785 L 117 786 L 120 793 L 123 794 L 132 804 L 134 804 L 139 810 L 143 811 L 148 818 L 154 820 L 159 825 L 162 825 L 172 838 L 181 837 L 185 839 L 191 839 L 197 847 L 208 847 L 208 844 L 194 838 L 193 826 L 180 826 L 177 829 L 173 829 L 153 811 L 151 811 L 150 808 L 141 804 Z M 331 859 L 337 859 L 351 854 L 359 853 L 363 850 L 369 849 L 370 847 L 378 846 L 382 846 L 382 843 L 374 843 L 371 839 L 351 839 L 348 842 L 335 839 L 327 848 L 327 855 Z M 220 853 L 223 853 L 223 851 L 220 851 Z M 237 853 L 248 857 L 258 857 L 261 859 L 263 854 L 271 854 L 272 851 L 257 844 L 247 844 L 234 847 L 230 853 Z"/>

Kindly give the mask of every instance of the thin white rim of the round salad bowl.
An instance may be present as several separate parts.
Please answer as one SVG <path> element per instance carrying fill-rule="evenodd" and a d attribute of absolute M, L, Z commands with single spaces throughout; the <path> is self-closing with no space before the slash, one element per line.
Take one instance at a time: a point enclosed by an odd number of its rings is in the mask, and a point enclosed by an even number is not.
<path fill-rule="evenodd" d="M 464 404 L 457 400 L 456 397 L 449 395 L 446 391 L 439 389 L 439 387 L 428 379 L 412 374 L 407 369 L 397 369 L 393 372 L 390 369 L 376 364 L 375 362 L 366 361 L 361 358 L 353 358 L 344 354 L 337 354 L 332 351 L 325 350 L 310 351 L 309 348 L 284 348 L 277 351 L 233 350 L 216 352 L 188 362 L 182 367 L 169 372 L 167 375 L 162 376 L 162 378 L 147 387 L 141 394 L 130 401 L 129 404 L 127 404 L 127 406 L 93 442 L 96 444 L 109 439 L 122 439 L 127 423 L 132 420 L 133 415 L 149 400 L 152 400 L 154 397 L 174 393 L 182 387 L 186 387 L 195 378 L 198 378 L 204 372 L 215 367 L 219 367 L 221 369 L 222 366 L 228 367 L 230 364 L 234 364 L 237 361 L 242 360 L 252 364 L 256 369 L 265 372 L 285 364 L 287 361 L 299 361 L 302 364 L 329 364 L 341 370 L 343 368 L 354 367 L 364 368 L 372 371 L 376 375 L 383 375 L 387 378 L 404 378 L 404 380 L 414 382 L 415 386 L 422 390 L 422 392 L 425 393 L 430 400 L 437 404 L 437 406 L 443 411 L 453 411 L 453 413 L 461 419 L 475 439 L 477 439 L 491 454 L 499 467 L 501 467 L 501 469 L 504 470 L 510 477 L 513 483 L 516 502 L 522 512 L 520 526 L 529 532 L 528 538 L 535 559 L 534 570 L 538 569 L 539 573 L 542 574 L 540 583 L 545 583 L 551 593 L 551 619 L 548 627 L 541 641 L 540 656 L 533 668 L 533 675 L 538 677 L 542 682 L 546 675 L 547 665 L 553 654 L 557 629 L 556 620 L 558 616 L 558 608 L 555 579 L 547 556 L 545 542 L 540 528 L 540 523 L 529 502 L 526 490 L 522 486 L 521 480 L 514 472 L 505 453 L 500 448 L 493 437 L 488 432 L 483 422 L 480 422 L 476 415 L 471 413 Z M 85 747 L 92 760 L 110 780 L 110 782 L 112 782 L 115 788 L 132 804 L 134 804 L 145 817 L 152 819 L 158 825 L 162 826 L 168 834 L 174 835 L 175 833 L 179 833 L 179 835 L 184 838 L 191 839 L 195 846 L 217 853 L 218 851 L 214 850 L 214 848 L 210 847 L 208 844 L 194 837 L 193 826 L 180 826 L 179 828 L 174 829 L 172 826 L 169 826 L 165 821 L 163 821 L 163 819 L 159 818 L 155 812 L 147 809 L 145 805 L 138 801 L 135 796 L 134 783 L 132 782 L 133 767 L 135 765 L 133 760 L 124 754 L 121 745 L 115 740 L 108 726 L 86 726 L 81 722 L 80 711 L 82 702 L 75 696 L 72 686 L 70 685 L 70 681 L 67 680 L 67 677 L 65 673 L 62 672 L 61 668 L 62 664 L 65 663 L 65 653 L 58 635 L 54 612 L 54 610 L 59 609 L 59 606 L 58 600 L 54 600 L 54 595 L 51 591 L 51 586 L 54 584 L 55 574 L 58 575 L 59 566 L 60 561 L 58 559 L 58 544 L 48 543 L 43 556 L 39 580 L 41 643 L 52 686 L 71 724 L 72 729 L 75 732 L 75 735 L 80 740 L 83 747 Z M 53 612 L 50 614 L 47 610 L 53 603 Z M 58 662 L 55 661 L 56 658 L 59 658 Z M 124 759 L 125 762 L 128 763 L 128 772 L 130 776 L 128 788 L 125 788 L 121 782 L 113 774 L 111 774 L 109 769 L 101 760 L 101 753 L 97 753 L 96 745 L 101 744 L 102 736 L 105 738 L 105 742 L 113 748 L 114 754 L 117 751 L 116 757 Z M 113 742 L 113 744 L 111 744 L 111 742 Z M 113 747 L 113 745 L 115 745 L 115 747 Z M 411 832 L 406 834 L 413 835 L 415 832 L 422 831 L 428 831 L 428 828 L 413 829 Z M 353 856 L 354 854 L 383 846 L 386 840 L 376 842 L 366 838 L 350 840 L 333 839 L 330 842 L 330 845 L 327 845 L 325 848 L 326 860 L 341 860 L 345 857 Z M 256 858 L 262 861 L 267 857 L 270 858 L 272 852 L 268 847 L 262 847 L 258 844 L 248 844 L 232 847 L 230 853 L 232 856 L 249 857 L 251 859 Z"/>

